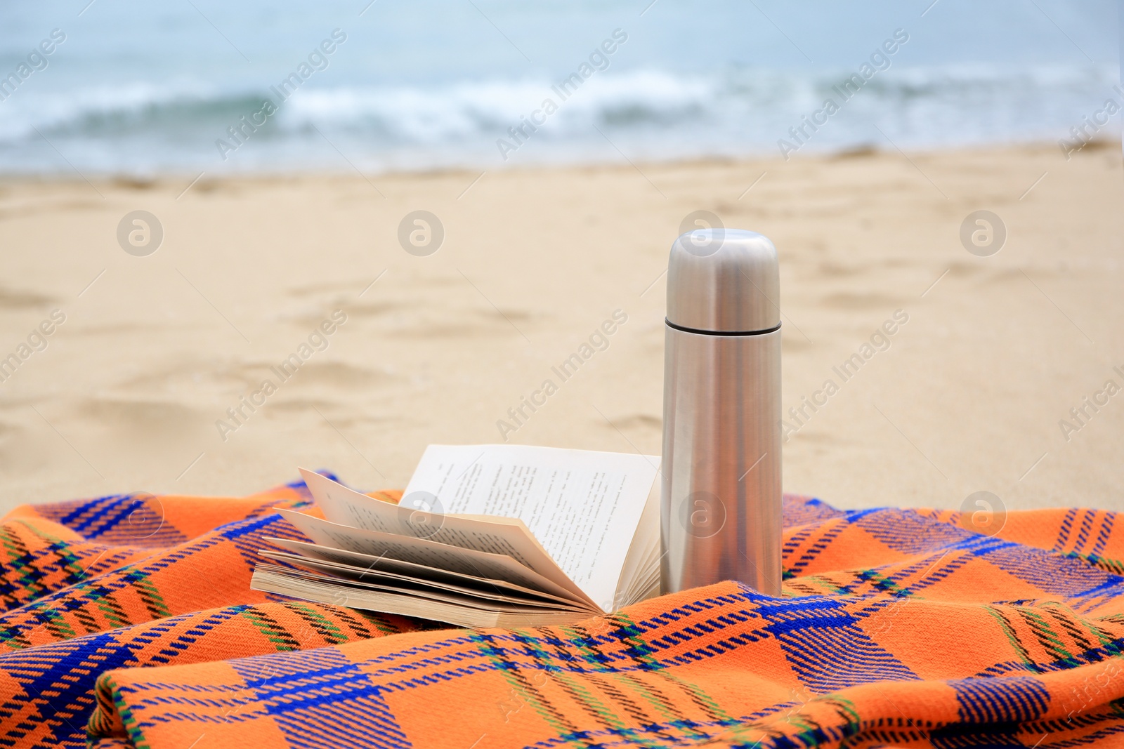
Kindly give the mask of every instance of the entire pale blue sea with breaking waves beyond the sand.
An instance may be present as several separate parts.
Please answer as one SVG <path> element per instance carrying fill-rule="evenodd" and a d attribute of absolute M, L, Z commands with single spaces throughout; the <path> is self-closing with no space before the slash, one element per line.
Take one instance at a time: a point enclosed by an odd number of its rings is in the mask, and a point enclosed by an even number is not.
<path fill-rule="evenodd" d="M 9 2 L 0 174 L 799 158 L 1058 144 L 1073 128 L 1118 139 L 1117 4 Z"/>

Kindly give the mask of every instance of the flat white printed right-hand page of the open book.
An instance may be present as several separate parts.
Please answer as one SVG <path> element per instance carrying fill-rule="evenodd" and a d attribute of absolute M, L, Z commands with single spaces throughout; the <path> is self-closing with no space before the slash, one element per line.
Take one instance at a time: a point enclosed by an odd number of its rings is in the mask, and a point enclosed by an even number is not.
<path fill-rule="evenodd" d="M 660 466 L 654 456 L 522 445 L 430 445 L 404 501 L 526 523 L 593 601 L 611 602 Z"/>

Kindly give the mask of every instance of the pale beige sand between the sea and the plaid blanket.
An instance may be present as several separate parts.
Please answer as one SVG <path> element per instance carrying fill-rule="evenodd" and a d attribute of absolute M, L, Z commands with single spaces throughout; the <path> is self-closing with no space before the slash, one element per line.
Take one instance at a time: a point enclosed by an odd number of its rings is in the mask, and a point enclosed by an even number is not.
<path fill-rule="evenodd" d="M 783 407 L 823 404 L 790 418 L 787 491 L 1124 508 L 1124 394 L 1104 391 L 1124 385 L 1117 148 L 478 175 L 4 181 L 0 357 L 30 355 L 0 383 L 2 509 L 242 494 L 298 466 L 400 487 L 430 442 L 658 454 L 661 274 L 695 210 L 780 253 Z M 418 209 L 444 226 L 428 256 L 397 238 Z M 1008 231 L 989 257 L 959 238 L 979 209 Z M 118 245 L 134 210 L 163 226 L 152 255 Z M 617 310 L 604 350 L 556 377 Z M 889 347 L 863 349 L 898 310 Z M 29 336 L 46 348 L 20 349 Z M 283 380 L 310 336 L 326 348 Z M 844 380 L 833 367 L 856 353 Z M 549 378 L 558 392 L 514 421 Z M 1107 402 L 1078 422 L 1086 396 Z"/>

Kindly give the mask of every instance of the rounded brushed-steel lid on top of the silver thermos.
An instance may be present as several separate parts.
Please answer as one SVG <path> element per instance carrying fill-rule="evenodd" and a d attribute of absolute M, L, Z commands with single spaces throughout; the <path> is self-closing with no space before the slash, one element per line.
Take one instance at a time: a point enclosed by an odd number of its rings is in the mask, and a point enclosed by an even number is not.
<path fill-rule="evenodd" d="M 696 229 L 671 245 L 668 322 L 691 331 L 761 332 L 780 325 L 777 248 L 756 231 Z"/>

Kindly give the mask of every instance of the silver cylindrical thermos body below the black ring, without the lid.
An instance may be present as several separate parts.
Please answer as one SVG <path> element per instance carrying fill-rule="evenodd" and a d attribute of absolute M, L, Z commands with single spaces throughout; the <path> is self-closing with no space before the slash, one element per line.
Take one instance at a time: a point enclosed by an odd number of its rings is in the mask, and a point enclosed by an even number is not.
<path fill-rule="evenodd" d="M 780 330 L 665 326 L 665 592 L 737 579 L 780 592 Z"/>

